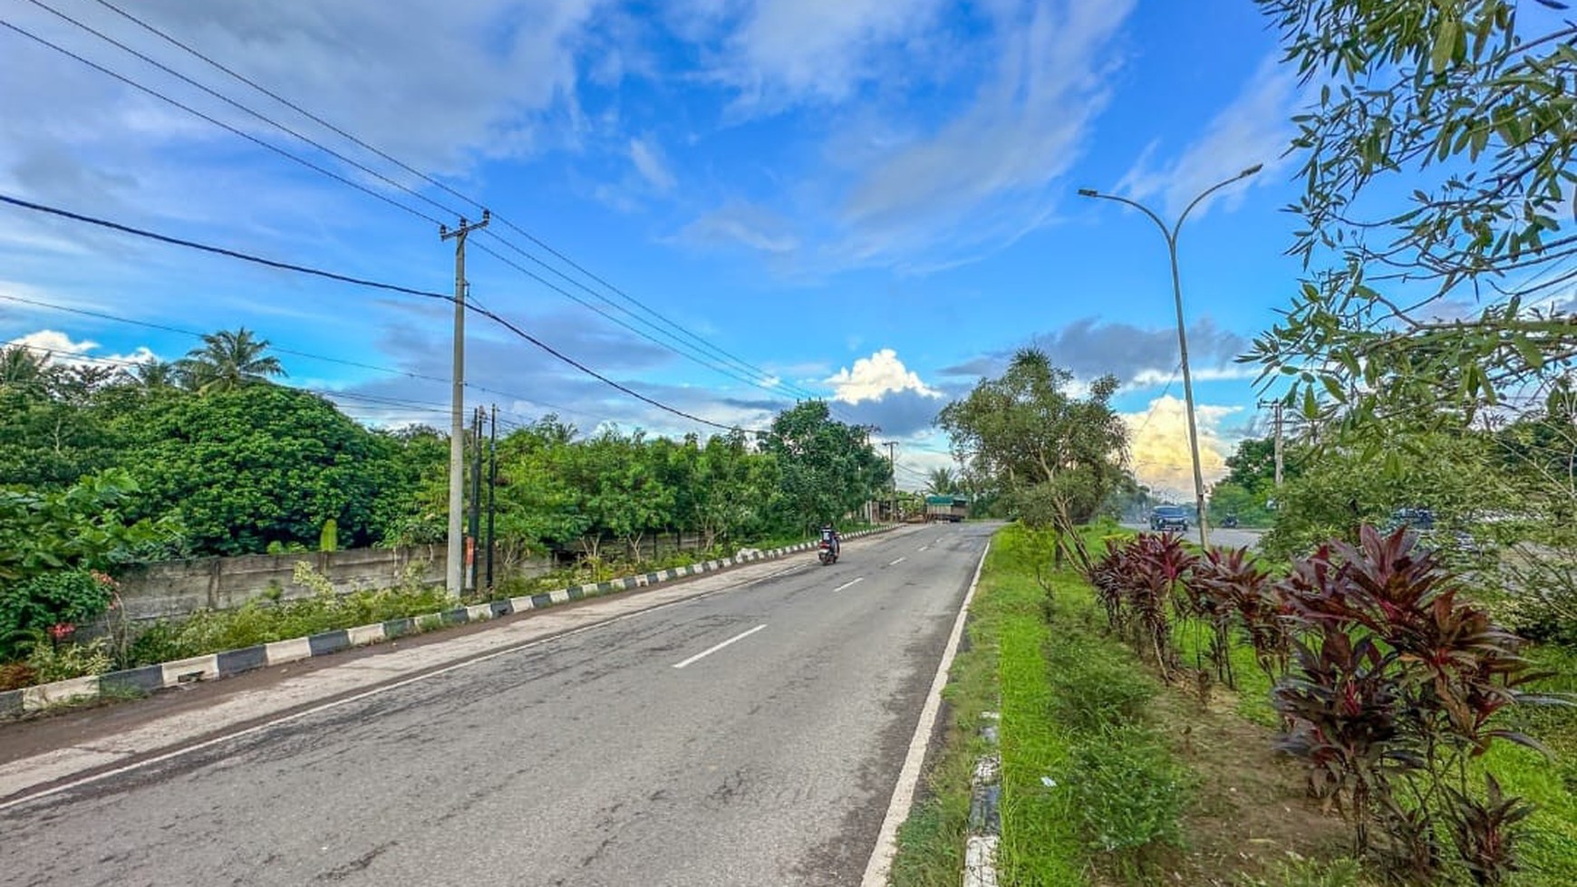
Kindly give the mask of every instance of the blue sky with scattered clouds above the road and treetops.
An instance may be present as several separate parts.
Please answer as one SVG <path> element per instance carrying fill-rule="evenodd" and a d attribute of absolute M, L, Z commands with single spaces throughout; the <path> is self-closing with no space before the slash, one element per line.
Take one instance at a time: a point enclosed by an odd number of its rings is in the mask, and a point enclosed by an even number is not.
<path fill-rule="evenodd" d="M 475 217 L 473 205 L 98 0 L 41 2 L 372 172 L 16 0 L 5 22 L 360 189 L 0 28 L 0 192 L 453 288 L 453 244 L 418 213 L 454 224 L 446 210 Z M 900 441 L 904 482 L 949 462 L 929 427 L 937 408 L 1014 348 L 1039 343 L 1079 378 L 1123 378 L 1135 471 L 1186 488 L 1165 244 L 1142 216 L 1076 191 L 1124 194 L 1172 216 L 1205 186 L 1263 162 L 1195 211 L 1181 236 L 1213 474 L 1257 421 L 1252 370 L 1232 358 L 1274 321 L 1299 274 L 1284 255 L 1295 217 L 1282 211 L 1298 195 L 1284 150 L 1299 88 L 1249 0 L 121 8 L 513 222 L 472 239 L 479 304 L 710 421 L 763 427 L 796 395 L 833 399 L 839 418 Z M 342 392 L 361 419 L 446 418 L 442 302 L 0 206 L 0 340 L 101 359 L 173 359 L 194 345 L 17 299 L 177 329 L 244 325 L 296 353 L 282 354 L 289 383 Z M 557 410 L 582 429 L 705 430 L 483 318 L 468 332 L 472 402 L 497 402 L 514 421 Z M 732 372 L 706 366 L 719 362 Z"/>

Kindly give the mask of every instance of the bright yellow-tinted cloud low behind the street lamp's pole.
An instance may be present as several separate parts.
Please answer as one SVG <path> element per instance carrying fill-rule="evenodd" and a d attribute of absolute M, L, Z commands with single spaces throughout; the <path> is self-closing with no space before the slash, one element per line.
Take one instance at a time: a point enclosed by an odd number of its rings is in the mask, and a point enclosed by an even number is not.
<path fill-rule="evenodd" d="M 1222 422 L 1241 413 L 1241 406 L 1200 403 L 1199 460 L 1205 485 L 1227 474 L 1227 457 L 1235 441 L 1225 440 Z M 1150 402 L 1150 410 L 1123 413 L 1128 425 L 1129 460 L 1134 476 L 1158 492 L 1186 499 L 1194 498 L 1194 462 L 1187 444 L 1187 405 L 1180 397 L 1162 395 Z"/>

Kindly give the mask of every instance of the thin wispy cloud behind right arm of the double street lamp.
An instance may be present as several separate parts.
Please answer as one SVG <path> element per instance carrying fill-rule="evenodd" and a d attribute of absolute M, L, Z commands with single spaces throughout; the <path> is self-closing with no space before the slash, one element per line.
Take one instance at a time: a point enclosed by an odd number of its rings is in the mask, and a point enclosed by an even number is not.
<path fill-rule="evenodd" d="M 1281 65 L 1279 55 L 1268 55 L 1249 76 L 1243 91 L 1205 126 L 1194 143 L 1172 162 L 1159 165 L 1154 164 L 1159 145 L 1151 143 L 1117 184 L 1117 191 L 1135 200 L 1159 195 L 1165 216 L 1175 219 L 1206 187 L 1254 164 L 1263 164 L 1265 169 L 1247 184 L 1221 191 L 1195 213 L 1203 214 L 1216 200 L 1227 200 L 1232 206 L 1247 187 L 1273 181 L 1273 173 L 1292 161 L 1287 148 L 1295 132 L 1292 115 L 1296 101 L 1296 71 Z"/>

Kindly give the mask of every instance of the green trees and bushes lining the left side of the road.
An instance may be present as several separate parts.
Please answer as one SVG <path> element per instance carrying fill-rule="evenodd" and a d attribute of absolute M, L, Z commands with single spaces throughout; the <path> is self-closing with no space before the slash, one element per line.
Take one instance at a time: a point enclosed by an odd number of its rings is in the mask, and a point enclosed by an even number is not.
<path fill-rule="evenodd" d="M 85 636 L 117 624 L 115 573 L 131 562 L 445 540 L 448 438 L 371 430 L 274 383 L 284 367 L 267 351 L 246 329 L 207 336 L 177 364 L 0 348 L 0 687 L 442 608 L 442 592 L 412 583 L 262 594 L 232 613 Z M 478 455 L 483 443 L 467 446 Z M 542 416 L 497 441 L 498 581 L 478 599 L 800 540 L 825 521 L 847 529 L 889 485 L 869 429 L 831 419 L 822 402 L 782 411 L 757 440 L 583 435 Z M 659 536 L 665 551 L 653 555 Z M 699 547 L 672 553 L 677 536 Z M 550 553 L 561 572 L 519 575 Z"/>

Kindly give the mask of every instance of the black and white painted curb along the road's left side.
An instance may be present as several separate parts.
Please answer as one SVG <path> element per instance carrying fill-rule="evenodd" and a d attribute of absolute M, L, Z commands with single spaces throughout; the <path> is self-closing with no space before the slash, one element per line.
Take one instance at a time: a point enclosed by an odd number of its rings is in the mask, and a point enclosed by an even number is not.
<path fill-rule="evenodd" d="M 872 536 L 888 529 L 893 529 L 893 526 L 850 533 L 844 537 L 859 539 L 863 536 Z M 599 597 L 604 594 L 629 591 L 632 588 L 713 573 L 755 561 L 787 558 L 788 555 L 798 555 L 800 551 L 814 551 L 815 547 L 815 542 L 801 542 L 798 545 L 787 545 L 784 548 L 771 548 L 766 551 L 746 548 L 733 558 L 702 561 L 688 567 L 656 570 L 618 580 L 599 581 L 595 585 L 576 585 L 525 597 L 509 597 L 472 607 L 456 607 L 440 613 L 424 613 L 421 616 L 390 619 L 386 622 L 374 622 L 371 625 L 356 625 L 355 629 L 339 629 L 336 632 L 323 632 L 320 635 L 304 638 L 290 638 L 287 641 L 211 652 L 208 655 L 194 655 L 191 659 L 144 665 L 140 668 L 128 668 L 125 671 L 90 674 L 87 677 L 73 677 L 69 681 L 55 681 L 54 684 L 39 684 L 36 687 L 24 687 L 21 690 L 8 690 L 0 693 L 0 718 L 41 711 L 62 703 L 95 700 L 103 695 L 153 693 L 191 681 L 229 677 L 255 668 L 284 665 L 287 662 L 298 662 L 315 655 L 330 655 L 350 648 L 377 644 L 408 635 L 419 635 L 445 625 L 483 622 L 500 616 L 509 616 L 513 613 L 542 610 L 544 607 L 568 603 L 585 597 Z"/>

